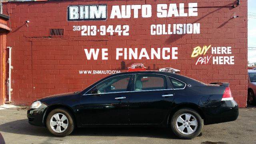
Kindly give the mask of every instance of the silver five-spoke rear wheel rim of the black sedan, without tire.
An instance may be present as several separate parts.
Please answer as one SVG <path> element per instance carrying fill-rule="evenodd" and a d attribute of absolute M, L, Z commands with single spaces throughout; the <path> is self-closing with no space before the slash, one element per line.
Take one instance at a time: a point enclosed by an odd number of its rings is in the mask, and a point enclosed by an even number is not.
<path fill-rule="evenodd" d="M 182 134 L 194 133 L 197 126 L 197 120 L 192 114 L 181 114 L 176 120 L 176 128 Z"/>

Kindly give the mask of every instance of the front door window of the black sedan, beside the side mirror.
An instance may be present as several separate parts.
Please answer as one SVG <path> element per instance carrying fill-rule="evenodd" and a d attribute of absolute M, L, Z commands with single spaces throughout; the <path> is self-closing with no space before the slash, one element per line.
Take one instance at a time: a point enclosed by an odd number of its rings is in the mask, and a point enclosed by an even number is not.
<path fill-rule="evenodd" d="M 94 90 L 97 90 L 97 92 L 94 92 L 94 94 L 126 92 L 130 77 L 131 75 L 116 76 L 114 78 L 105 80 L 104 82 L 98 84 L 96 88 L 94 88 Z"/>

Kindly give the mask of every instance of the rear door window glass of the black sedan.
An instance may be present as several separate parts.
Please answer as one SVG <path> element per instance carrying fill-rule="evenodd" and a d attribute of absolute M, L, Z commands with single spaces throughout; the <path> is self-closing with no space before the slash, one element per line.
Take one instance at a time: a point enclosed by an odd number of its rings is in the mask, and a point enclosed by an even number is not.
<path fill-rule="evenodd" d="M 136 75 L 134 91 L 166 89 L 166 80 L 160 75 Z"/>

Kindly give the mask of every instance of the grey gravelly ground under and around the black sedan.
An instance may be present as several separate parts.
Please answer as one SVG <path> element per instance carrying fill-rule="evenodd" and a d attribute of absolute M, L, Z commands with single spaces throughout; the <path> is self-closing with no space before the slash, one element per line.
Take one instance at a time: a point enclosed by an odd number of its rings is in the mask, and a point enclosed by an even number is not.
<path fill-rule="evenodd" d="M 26 110 L 0 110 L 6 144 L 256 144 L 256 107 L 240 108 L 236 121 L 204 126 L 192 140 L 180 140 L 167 128 L 77 128 L 70 136 L 52 136 L 28 124 Z"/>

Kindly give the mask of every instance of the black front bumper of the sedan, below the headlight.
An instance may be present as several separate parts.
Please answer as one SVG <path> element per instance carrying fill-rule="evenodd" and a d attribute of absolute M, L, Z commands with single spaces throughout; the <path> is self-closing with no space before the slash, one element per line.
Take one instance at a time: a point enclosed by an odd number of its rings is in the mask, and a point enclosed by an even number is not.
<path fill-rule="evenodd" d="M 35 126 L 44 126 L 44 114 L 46 108 L 29 109 L 27 112 L 28 123 Z"/>

